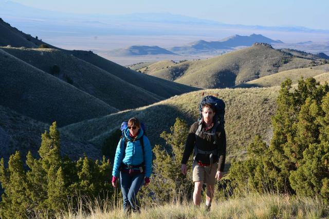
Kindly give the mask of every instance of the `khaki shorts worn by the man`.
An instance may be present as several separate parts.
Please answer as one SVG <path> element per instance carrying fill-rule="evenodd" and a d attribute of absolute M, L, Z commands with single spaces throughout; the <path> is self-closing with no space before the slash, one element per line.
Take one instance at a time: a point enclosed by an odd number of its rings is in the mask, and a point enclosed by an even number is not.
<path fill-rule="evenodd" d="M 217 172 L 218 163 L 212 164 L 211 170 L 210 166 L 200 166 L 194 161 L 192 165 L 193 169 L 193 183 L 198 181 L 204 181 L 206 184 L 214 185 L 216 182 L 215 175 Z"/>

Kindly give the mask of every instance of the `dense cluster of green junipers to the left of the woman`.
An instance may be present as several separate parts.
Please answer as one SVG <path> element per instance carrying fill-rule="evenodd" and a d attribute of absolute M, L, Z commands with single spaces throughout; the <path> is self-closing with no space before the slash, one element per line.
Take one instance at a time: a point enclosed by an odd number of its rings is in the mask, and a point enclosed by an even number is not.
<path fill-rule="evenodd" d="M 77 196 L 88 198 L 105 197 L 112 192 L 108 180 L 111 175 L 109 161 L 92 161 L 86 156 L 71 161 L 60 154 L 60 133 L 56 123 L 49 132 L 41 135 L 40 158 L 27 154 L 27 171 L 21 154 L 10 156 L 8 168 L 0 161 L 0 183 L 4 188 L 0 202 L 2 218 L 32 218 L 35 213 L 47 211 L 48 216 L 71 207 L 77 208 Z"/>

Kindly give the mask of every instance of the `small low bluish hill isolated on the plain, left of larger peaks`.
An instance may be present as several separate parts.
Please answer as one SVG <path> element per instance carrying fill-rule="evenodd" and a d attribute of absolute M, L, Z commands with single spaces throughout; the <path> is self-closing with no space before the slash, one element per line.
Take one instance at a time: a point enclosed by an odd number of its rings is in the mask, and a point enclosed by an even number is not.
<path fill-rule="evenodd" d="M 158 46 L 130 46 L 123 49 L 115 49 L 108 52 L 112 56 L 135 56 L 135 55 L 159 55 L 175 53 Z"/>

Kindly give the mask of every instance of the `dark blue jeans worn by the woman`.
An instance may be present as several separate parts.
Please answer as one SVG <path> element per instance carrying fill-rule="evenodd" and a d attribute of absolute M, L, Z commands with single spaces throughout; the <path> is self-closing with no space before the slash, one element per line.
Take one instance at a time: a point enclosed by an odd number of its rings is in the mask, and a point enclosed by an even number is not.
<path fill-rule="evenodd" d="M 139 212 L 137 193 L 144 182 L 144 174 L 120 172 L 121 192 L 123 197 L 123 210 L 129 212 L 130 208 L 134 212 Z"/>

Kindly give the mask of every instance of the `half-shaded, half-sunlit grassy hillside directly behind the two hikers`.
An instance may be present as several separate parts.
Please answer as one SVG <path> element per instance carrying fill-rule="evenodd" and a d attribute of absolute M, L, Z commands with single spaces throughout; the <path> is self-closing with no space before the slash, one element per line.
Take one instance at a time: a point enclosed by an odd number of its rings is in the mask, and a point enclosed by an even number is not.
<path fill-rule="evenodd" d="M 71 136 L 88 141 L 99 147 L 112 132 L 119 128 L 123 120 L 136 116 L 146 125 L 151 143 L 162 144 L 159 134 L 169 131 L 176 117 L 184 118 L 189 124 L 197 120 L 197 108 L 204 95 L 215 95 L 226 103 L 226 132 L 228 156 L 243 157 L 245 147 L 255 134 L 268 138 L 270 117 L 275 112 L 275 99 L 279 87 L 251 89 L 213 89 L 195 91 L 175 96 L 159 103 L 126 110 L 111 115 L 71 124 L 62 128 Z"/>

